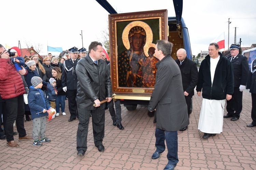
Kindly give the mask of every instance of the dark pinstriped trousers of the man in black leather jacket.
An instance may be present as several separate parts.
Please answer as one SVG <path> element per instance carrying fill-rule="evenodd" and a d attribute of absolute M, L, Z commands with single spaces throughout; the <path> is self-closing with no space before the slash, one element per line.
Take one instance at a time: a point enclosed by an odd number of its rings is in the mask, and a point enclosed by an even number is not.
<path fill-rule="evenodd" d="M 104 138 L 104 126 L 105 126 L 105 108 L 96 110 L 86 110 L 78 108 L 79 124 L 76 134 L 76 150 L 87 150 L 87 135 L 88 125 L 90 120 L 90 113 L 93 123 L 93 137 L 95 146 L 102 145 Z"/>

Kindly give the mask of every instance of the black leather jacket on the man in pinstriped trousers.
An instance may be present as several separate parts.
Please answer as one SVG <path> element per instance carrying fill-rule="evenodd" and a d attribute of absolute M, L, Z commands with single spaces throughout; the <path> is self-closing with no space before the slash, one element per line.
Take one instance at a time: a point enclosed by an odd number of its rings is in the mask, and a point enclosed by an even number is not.
<path fill-rule="evenodd" d="M 89 54 L 79 60 L 76 65 L 77 74 L 77 107 L 81 109 L 96 110 L 94 100 L 105 100 L 112 97 L 110 71 L 104 60 L 98 60 L 98 65 L 91 60 Z M 100 109 L 105 108 L 105 103 Z"/>

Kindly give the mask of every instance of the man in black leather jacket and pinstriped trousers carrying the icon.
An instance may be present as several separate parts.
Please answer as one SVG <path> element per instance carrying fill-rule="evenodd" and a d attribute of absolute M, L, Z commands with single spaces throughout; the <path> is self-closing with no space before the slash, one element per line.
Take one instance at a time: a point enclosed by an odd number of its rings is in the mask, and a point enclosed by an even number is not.
<path fill-rule="evenodd" d="M 102 145 L 105 125 L 105 103 L 111 101 L 110 71 L 105 61 L 101 59 L 103 54 L 102 44 L 93 41 L 89 45 L 89 54 L 82 58 L 76 66 L 77 74 L 77 109 L 79 124 L 76 135 L 76 149 L 78 156 L 84 156 L 87 150 L 87 135 L 90 113 L 93 123 L 94 145 L 100 152 L 105 150 Z M 95 107 L 93 105 L 96 105 Z"/>

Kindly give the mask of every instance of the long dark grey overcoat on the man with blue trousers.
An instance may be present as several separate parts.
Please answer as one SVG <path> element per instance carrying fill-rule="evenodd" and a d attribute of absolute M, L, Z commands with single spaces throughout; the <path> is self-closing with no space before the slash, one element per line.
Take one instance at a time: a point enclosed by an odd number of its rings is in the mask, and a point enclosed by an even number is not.
<path fill-rule="evenodd" d="M 170 55 L 159 61 L 156 67 L 156 84 L 148 110 L 156 109 L 156 128 L 178 131 L 189 124 L 180 68 Z"/>

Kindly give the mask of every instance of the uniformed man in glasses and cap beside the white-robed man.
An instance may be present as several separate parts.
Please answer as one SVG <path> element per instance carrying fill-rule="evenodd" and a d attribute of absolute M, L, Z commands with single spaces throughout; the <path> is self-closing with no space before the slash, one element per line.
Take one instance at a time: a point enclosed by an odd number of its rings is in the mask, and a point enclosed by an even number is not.
<path fill-rule="evenodd" d="M 236 121 L 242 112 L 243 90 L 247 83 L 248 77 L 248 60 L 245 56 L 239 54 L 239 45 L 231 44 L 230 54 L 227 58 L 231 61 L 234 70 L 234 93 L 230 100 L 227 100 L 228 114 L 224 118 L 231 118 L 231 121 Z"/>

